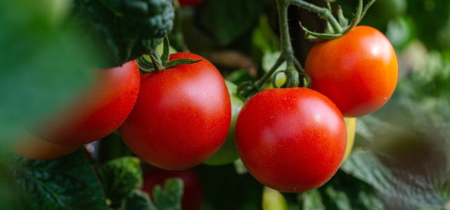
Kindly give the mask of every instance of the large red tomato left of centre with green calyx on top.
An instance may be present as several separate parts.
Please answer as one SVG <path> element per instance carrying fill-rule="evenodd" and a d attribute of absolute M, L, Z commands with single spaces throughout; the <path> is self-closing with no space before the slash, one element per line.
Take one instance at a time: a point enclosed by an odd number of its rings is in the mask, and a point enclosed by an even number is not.
<path fill-rule="evenodd" d="M 194 167 L 224 143 L 231 102 L 221 73 L 205 58 L 177 52 L 170 59 L 201 59 L 141 76 L 141 90 L 119 132 L 131 151 L 162 169 Z"/>

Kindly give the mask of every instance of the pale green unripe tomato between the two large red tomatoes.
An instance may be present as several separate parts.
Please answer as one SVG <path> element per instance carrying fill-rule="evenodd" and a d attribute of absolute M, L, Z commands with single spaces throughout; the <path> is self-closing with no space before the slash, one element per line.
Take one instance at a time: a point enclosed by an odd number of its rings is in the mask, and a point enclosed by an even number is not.
<path fill-rule="evenodd" d="M 228 135 L 226 136 L 226 140 L 224 144 L 221 146 L 219 151 L 217 151 L 210 158 L 205 160 L 206 165 L 226 165 L 229 164 L 239 158 L 238 150 L 236 148 L 236 138 L 234 136 L 234 130 L 236 127 L 236 119 L 238 118 L 238 114 L 244 102 L 238 95 L 236 94 L 236 90 L 238 89 L 237 85 L 231 83 L 228 80 L 225 80 L 226 87 L 228 87 L 228 91 L 230 93 L 231 98 L 231 125 Z"/>

